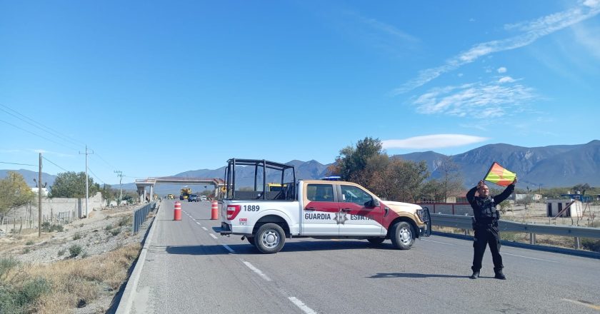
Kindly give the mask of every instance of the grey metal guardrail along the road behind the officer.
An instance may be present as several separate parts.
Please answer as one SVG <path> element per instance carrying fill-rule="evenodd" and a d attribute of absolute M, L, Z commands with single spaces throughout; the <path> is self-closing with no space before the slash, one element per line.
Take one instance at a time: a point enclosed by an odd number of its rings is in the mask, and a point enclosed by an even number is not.
<path fill-rule="evenodd" d="M 444 226 L 470 230 L 472 216 L 445 215 L 441 213 L 431 214 L 431 224 L 434 226 Z M 580 248 L 580 238 L 600 238 L 600 228 L 589 228 L 579 226 L 552 226 L 536 223 L 516 223 L 514 221 L 499 221 L 500 231 L 529 233 L 531 244 L 535 244 L 536 234 L 547 234 L 553 236 L 567 236 L 575 238 L 576 248 Z"/>

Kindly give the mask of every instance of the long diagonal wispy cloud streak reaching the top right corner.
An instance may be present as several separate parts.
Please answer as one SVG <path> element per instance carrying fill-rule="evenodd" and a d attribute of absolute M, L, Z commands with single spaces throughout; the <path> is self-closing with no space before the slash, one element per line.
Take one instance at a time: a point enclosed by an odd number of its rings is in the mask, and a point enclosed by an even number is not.
<path fill-rule="evenodd" d="M 511 49 L 527 46 L 540 37 L 547 36 L 568 26 L 577 24 L 600 13 L 599 0 L 586 0 L 578 6 L 556 14 L 542 16 L 533 21 L 524 21 L 519 24 L 507 24 L 506 30 L 521 31 L 521 34 L 509 37 L 507 39 L 487 41 L 481 44 L 475 44 L 471 49 L 462 52 L 446 60 L 446 63 L 436 68 L 425 69 L 419 72 L 419 76 L 407 81 L 392 93 L 406 93 L 414 88 L 423 86 L 429 81 L 434 80 L 441 74 L 454 71 L 464 64 L 469 64 L 481 56 L 486 56 L 494 52 L 507 51 Z"/>

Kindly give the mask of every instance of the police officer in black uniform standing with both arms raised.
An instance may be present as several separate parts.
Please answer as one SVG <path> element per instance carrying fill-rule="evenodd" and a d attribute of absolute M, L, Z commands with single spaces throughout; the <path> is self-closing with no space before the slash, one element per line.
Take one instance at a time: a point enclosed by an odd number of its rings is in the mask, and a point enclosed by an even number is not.
<path fill-rule="evenodd" d="M 506 187 L 504 192 L 498 196 L 489 196 L 489 188 L 486 186 L 483 180 L 477 183 L 477 186 L 471 188 L 466 193 L 466 199 L 473 208 L 473 229 L 475 236 L 473 238 L 473 275 L 471 279 L 479 277 L 479 270 L 481 270 L 481 260 L 484 258 L 486 246 L 489 245 L 491 251 L 492 260 L 494 260 L 494 278 L 506 279 L 504 273 L 502 273 L 502 256 L 500 255 L 500 235 L 498 230 L 498 221 L 500 219 L 500 213 L 496 209 L 496 205 L 506 200 L 511 193 L 514 191 L 514 185 L 516 184 L 516 178 L 514 181 Z M 475 196 L 475 191 L 479 192 L 479 196 Z"/>

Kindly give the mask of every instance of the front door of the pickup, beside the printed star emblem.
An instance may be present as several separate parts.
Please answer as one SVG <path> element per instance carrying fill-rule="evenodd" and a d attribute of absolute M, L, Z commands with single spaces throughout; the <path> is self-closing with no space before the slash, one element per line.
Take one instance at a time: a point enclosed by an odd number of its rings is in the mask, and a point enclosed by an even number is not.
<path fill-rule="evenodd" d="M 340 236 L 381 236 L 385 231 L 381 204 L 372 206 L 374 196 L 357 186 L 340 186 L 340 213 L 346 214 L 339 225 Z"/>

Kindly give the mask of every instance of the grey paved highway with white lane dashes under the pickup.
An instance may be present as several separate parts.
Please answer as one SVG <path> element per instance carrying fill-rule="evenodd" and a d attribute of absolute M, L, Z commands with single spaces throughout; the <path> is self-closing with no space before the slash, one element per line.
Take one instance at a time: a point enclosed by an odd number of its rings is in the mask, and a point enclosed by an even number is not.
<path fill-rule="evenodd" d="M 264 255 L 212 231 L 211 203 L 163 201 L 132 313 L 599 313 L 600 261 L 503 246 L 471 280 L 472 243 L 431 236 L 411 250 L 389 240 L 286 239 Z"/>

